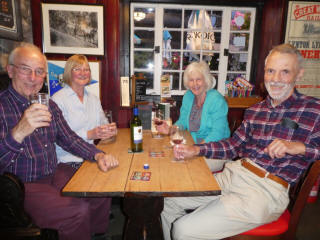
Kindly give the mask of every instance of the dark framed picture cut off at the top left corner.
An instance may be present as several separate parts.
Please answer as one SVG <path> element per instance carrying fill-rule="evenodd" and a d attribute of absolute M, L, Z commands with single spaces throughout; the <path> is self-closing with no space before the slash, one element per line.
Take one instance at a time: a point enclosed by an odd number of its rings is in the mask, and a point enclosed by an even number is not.
<path fill-rule="evenodd" d="M 22 40 L 19 0 L 0 1 L 0 38 Z"/>

